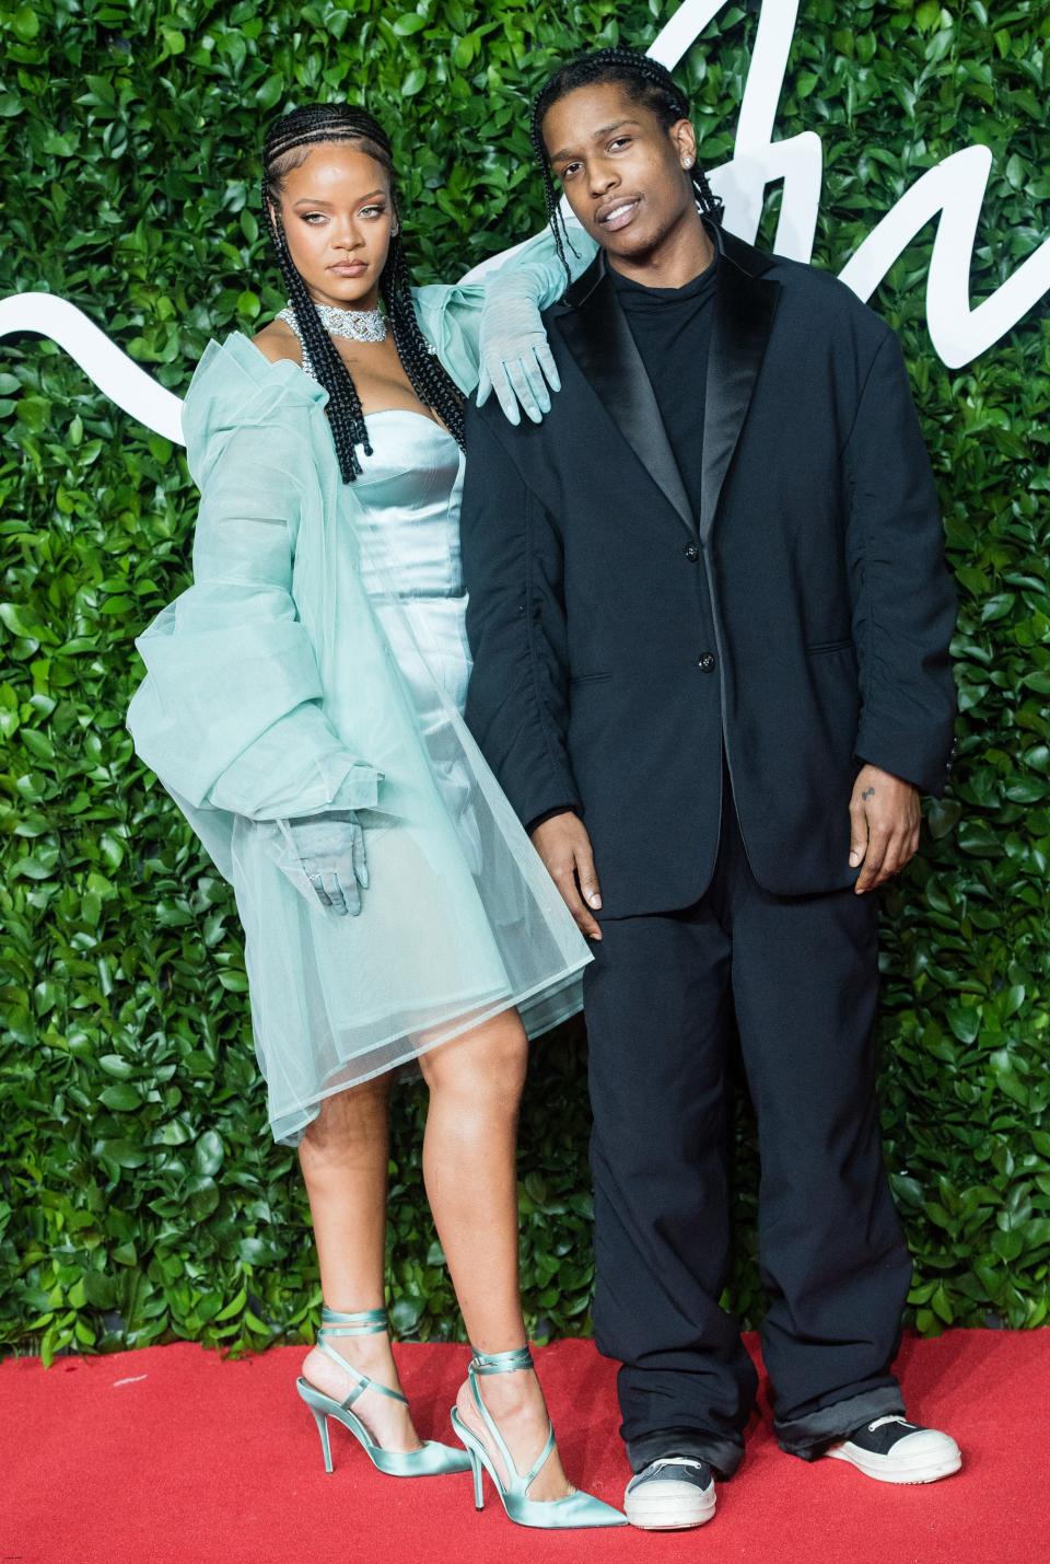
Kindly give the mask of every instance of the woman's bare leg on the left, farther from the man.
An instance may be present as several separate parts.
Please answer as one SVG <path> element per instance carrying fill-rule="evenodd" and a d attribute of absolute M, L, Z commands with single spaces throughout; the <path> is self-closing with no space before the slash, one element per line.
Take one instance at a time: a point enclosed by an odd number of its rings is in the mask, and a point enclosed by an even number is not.
<path fill-rule="evenodd" d="M 341 1314 L 381 1309 L 384 1301 L 388 1090 L 389 1078 L 380 1076 L 325 1098 L 298 1148 L 320 1289 L 328 1308 Z M 338 1336 L 331 1345 L 370 1379 L 400 1390 L 389 1336 Z M 303 1378 L 338 1401 L 353 1389 L 350 1375 L 316 1347 L 306 1354 Z M 419 1448 L 400 1401 L 366 1390 L 353 1411 L 386 1450 Z"/>

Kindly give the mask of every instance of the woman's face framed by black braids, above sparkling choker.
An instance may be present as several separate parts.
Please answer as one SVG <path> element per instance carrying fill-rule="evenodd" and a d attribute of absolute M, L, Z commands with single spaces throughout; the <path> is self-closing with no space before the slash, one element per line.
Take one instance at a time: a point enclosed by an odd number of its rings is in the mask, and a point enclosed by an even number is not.
<path fill-rule="evenodd" d="M 353 142 L 322 142 L 281 183 L 295 271 L 314 303 L 375 310 L 397 233 L 386 169 Z"/>

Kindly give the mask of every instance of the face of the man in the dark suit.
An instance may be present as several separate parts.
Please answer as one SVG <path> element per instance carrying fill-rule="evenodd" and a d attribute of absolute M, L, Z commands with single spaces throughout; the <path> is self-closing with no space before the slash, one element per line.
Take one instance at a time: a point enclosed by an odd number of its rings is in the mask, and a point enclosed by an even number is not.
<path fill-rule="evenodd" d="M 547 109 L 544 142 L 569 205 L 609 256 L 641 260 L 695 216 L 689 120 L 664 130 L 616 83 L 577 88 Z"/>

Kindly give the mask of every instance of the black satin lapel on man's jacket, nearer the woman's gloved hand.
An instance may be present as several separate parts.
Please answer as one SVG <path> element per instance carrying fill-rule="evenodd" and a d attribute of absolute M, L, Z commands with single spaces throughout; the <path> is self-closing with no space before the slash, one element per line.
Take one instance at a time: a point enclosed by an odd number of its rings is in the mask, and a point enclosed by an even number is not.
<path fill-rule="evenodd" d="M 556 321 L 606 413 L 694 536 L 695 518 L 656 396 L 605 269 L 586 299 Z"/>

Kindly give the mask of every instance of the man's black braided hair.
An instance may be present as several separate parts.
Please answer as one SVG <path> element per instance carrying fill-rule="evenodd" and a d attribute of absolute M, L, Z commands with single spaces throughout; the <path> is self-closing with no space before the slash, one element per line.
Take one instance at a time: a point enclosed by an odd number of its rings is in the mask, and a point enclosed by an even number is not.
<path fill-rule="evenodd" d="M 566 261 L 569 235 L 566 233 L 566 219 L 561 214 L 558 189 L 550 172 L 550 160 L 544 144 L 544 116 L 552 103 L 558 103 L 559 99 L 569 92 L 575 92 L 577 88 L 591 88 L 606 81 L 619 83 L 631 102 L 652 109 L 664 130 L 670 130 L 680 119 L 689 119 L 689 103 L 670 70 L 661 66 L 658 59 L 652 59 L 650 55 L 642 55 L 638 48 L 594 48 L 588 55 L 578 55 L 577 59 L 570 59 L 569 64 L 561 66 L 541 88 L 533 102 L 530 136 L 533 152 L 544 174 L 547 222 L 555 236 L 561 264 L 566 267 L 570 280 L 572 274 Z M 722 202 L 708 185 L 703 169 L 694 163 L 689 177 L 700 211 L 720 222 Z"/>

